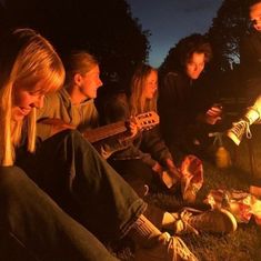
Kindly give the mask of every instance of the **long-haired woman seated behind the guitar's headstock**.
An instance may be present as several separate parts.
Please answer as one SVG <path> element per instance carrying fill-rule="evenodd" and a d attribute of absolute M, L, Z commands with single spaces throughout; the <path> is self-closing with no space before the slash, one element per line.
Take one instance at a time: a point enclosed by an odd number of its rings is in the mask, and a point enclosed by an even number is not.
<path fill-rule="evenodd" d="M 157 111 L 155 69 L 148 64 L 139 66 L 132 77 L 130 89 L 129 97 L 126 92 L 119 92 L 103 101 L 106 123 Z M 113 153 L 109 162 L 140 195 L 145 194 L 148 189 L 152 190 L 153 180 L 158 180 L 159 185 L 168 190 L 173 189 L 181 178 L 157 127 L 139 132 L 129 147 Z"/>

